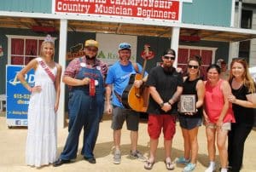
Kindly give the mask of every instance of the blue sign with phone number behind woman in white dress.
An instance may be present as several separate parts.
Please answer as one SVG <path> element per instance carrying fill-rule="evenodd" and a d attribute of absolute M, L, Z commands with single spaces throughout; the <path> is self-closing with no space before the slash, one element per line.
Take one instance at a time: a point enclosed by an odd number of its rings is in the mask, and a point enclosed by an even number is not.
<path fill-rule="evenodd" d="M 27 108 L 30 93 L 17 79 L 16 74 L 24 66 L 6 66 L 6 123 L 12 126 L 27 126 Z M 26 82 L 34 85 L 34 71 L 25 76 Z"/>

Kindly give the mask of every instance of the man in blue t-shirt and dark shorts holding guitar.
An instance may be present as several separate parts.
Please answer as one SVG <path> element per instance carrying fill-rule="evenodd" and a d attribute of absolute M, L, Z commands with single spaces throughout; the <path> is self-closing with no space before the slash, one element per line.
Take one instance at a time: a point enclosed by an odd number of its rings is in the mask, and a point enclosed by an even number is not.
<path fill-rule="evenodd" d="M 113 115 L 111 128 L 113 129 L 113 144 L 115 146 L 113 152 L 113 163 L 115 164 L 121 162 L 120 138 L 121 129 L 125 120 L 127 129 L 131 130 L 131 158 L 145 161 L 143 155 L 137 151 L 139 113 L 131 109 L 126 109 L 121 100 L 121 96 L 129 83 L 130 76 L 143 72 L 143 67 L 139 64 L 132 64 L 130 58 L 131 44 L 120 43 L 119 61 L 115 62 L 113 66 L 109 68 L 106 79 L 106 109 L 108 114 Z M 136 88 L 140 88 L 146 80 L 147 77 L 143 77 L 142 80 L 135 80 L 133 84 Z M 113 108 L 110 104 L 111 95 L 113 95 Z"/>

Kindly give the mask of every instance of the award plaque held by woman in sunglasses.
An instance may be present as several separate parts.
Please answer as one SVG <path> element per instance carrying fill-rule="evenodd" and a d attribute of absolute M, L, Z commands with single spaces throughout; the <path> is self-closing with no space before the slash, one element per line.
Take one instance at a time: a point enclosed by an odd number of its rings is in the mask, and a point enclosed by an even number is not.
<path fill-rule="evenodd" d="M 195 95 L 181 95 L 179 112 L 196 112 L 195 102 Z"/>

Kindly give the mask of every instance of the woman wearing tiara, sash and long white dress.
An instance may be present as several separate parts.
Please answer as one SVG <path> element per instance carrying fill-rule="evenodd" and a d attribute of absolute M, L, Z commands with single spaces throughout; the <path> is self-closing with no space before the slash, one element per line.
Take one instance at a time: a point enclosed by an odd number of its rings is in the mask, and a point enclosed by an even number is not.
<path fill-rule="evenodd" d="M 54 54 L 54 39 L 48 35 L 41 45 L 40 56 L 31 60 L 17 75 L 32 94 L 27 112 L 26 164 L 35 167 L 53 163 L 56 159 L 61 66 L 53 60 Z M 24 77 L 32 68 L 35 70 L 33 87 Z"/>

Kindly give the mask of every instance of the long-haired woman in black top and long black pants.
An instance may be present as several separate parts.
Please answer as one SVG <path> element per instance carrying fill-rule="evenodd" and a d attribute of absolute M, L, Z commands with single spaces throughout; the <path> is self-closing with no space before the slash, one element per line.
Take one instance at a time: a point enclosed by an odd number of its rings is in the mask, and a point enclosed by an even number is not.
<path fill-rule="evenodd" d="M 236 118 L 229 132 L 229 166 L 232 172 L 236 172 L 241 169 L 244 143 L 253 129 L 253 108 L 256 107 L 255 83 L 248 72 L 246 60 L 232 60 L 229 82 L 233 94 L 229 101 L 233 103 Z"/>

